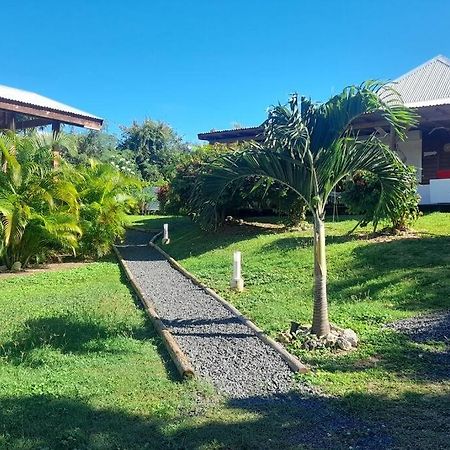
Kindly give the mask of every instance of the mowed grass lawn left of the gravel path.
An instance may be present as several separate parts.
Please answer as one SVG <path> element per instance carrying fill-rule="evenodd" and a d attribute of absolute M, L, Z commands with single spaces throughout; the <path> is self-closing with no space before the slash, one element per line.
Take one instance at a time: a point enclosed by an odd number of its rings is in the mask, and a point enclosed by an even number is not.
<path fill-rule="evenodd" d="M 316 420 L 181 382 L 115 261 L 0 278 L 0 292 L 1 449 L 276 448 Z"/>

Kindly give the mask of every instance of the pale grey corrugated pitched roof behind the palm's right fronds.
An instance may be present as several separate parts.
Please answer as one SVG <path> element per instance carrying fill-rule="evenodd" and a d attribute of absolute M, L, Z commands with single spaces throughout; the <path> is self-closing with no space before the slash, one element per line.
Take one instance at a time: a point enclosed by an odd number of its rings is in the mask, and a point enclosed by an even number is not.
<path fill-rule="evenodd" d="M 450 104 L 450 59 L 438 55 L 392 84 L 407 106 Z"/>

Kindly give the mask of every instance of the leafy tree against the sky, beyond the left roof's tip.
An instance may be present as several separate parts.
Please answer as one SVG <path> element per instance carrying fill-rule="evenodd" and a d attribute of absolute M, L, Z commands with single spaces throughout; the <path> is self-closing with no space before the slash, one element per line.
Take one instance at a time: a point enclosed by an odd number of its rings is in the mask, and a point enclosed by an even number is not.
<path fill-rule="evenodd" d="M 142 178 L 147 181 L 167 179 L 182 154 L 189 151 L 172 128 L 150 119 L 122 127 L 118 149 L 133 152 Z"/>

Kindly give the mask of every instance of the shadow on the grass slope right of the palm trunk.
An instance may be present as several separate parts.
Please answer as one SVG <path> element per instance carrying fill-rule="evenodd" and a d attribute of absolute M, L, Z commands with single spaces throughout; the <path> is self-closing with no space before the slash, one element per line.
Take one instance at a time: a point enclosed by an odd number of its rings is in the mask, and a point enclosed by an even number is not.
<path fill-rule="evenodd" d="M 450 275 L 450 236 L 367 243 L 351 252 L 354 263 L 350 274 L 329 280 L 334 301 L 358 301 L 362 285 L 371 297 L 396 286 L 399 291 L 390 298 L 397 309 L 450 307 L 446 281 Z"/>

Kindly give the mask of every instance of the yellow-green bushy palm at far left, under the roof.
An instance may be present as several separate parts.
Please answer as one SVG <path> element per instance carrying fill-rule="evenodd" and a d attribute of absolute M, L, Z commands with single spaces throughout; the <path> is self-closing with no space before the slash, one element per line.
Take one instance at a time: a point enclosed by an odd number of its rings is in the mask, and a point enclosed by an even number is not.
<path fill-rule="evenodd" d="M 75 249 L 81 233 L 77 192 L 53 167 L 61 139 L 0 135 L 0 260 L 8 268 L 26 266 L 51 249 Z"/>

